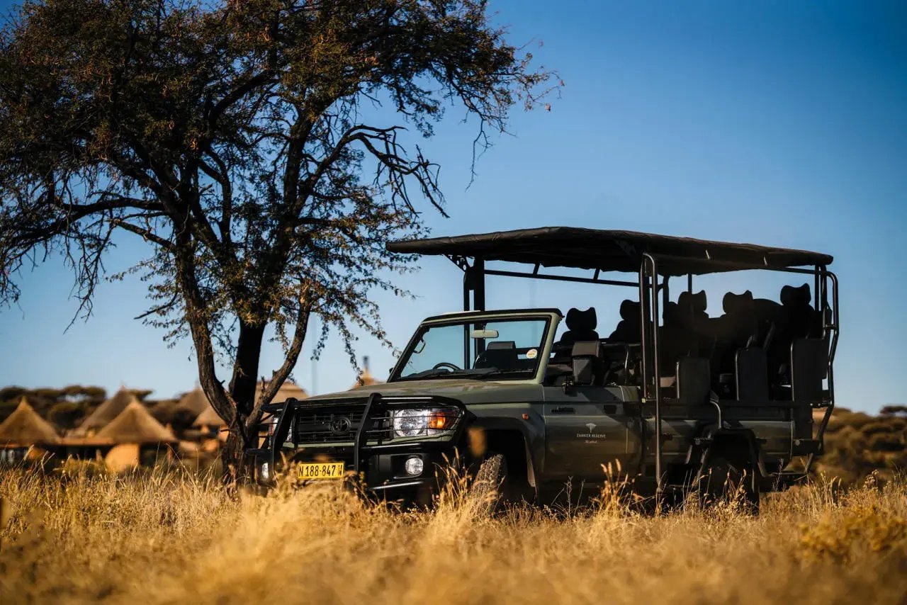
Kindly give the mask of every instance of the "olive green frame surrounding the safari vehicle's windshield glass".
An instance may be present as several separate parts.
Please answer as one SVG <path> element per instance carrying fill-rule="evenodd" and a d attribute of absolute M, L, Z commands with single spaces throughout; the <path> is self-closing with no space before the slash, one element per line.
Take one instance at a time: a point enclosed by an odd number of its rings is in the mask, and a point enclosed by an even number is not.
<path fill-rule="evenodd" d="M 529 310 L 529 311 L 470 311 L 470 312 L 459 312 L 452 313 L 447 316 L 435 316 L 429 317 L 424 320 L 419 327 L 417 327 L 413 333 L 413 336 L 410 337 L 409 342 L 406 343 L 403 352 L 397 359 L 394 369 L 391 372 L 390 377 L 388 377 L 388 383 L 395 382 L 412 382 L 414 380 L 440 380 L 444 379 L 445 376 L 414 376 L 406 377 L 400 376 L 400 373 L 405 367 L 405 360 L 412 354 L 414 347 L 419 343 L 422 335 L 425 331 L 432 327 L 445 327 L 445 326 L 462 326 L 463 324 L 472 324 L 477 322 L 490 322 L 490 321 L 519 321 L 521 319 L 541 319 L 544 320 L 544 332 L 542 333 L 541 338 L 541 351 L 539 354 L 539 364 L 535 368 L 535 374 L 531 377 L 522 377 L 522 378 L 507 378 L 504 376 L 495 376 L 494 379 L 497 380 L 507 380 L 509 382 L 541 382 L 541 376 L 544 376 L 545 366 L 548 365 L 548 357 L 551 356 L 551 346 L 554 337 L 554 333 L 557 332 L 557 327 L 561 322 L 561 312 L 557 309 L 544 309 L 544 310 Z M 464 379 L 481 379 L 482 376 L 462 376 L 459 374 L 450 376 L 451 378 L 464 378 Z"/>

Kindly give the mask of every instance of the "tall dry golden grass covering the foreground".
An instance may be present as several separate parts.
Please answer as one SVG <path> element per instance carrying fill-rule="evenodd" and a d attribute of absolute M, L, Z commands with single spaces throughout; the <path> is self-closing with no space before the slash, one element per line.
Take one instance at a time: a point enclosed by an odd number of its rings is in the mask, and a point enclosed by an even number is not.
<path fill-rule="evenodd" d="M 0 602 L 904 602 L 904 483 L 658 517 L 607 496 L 489 519 L 448 493 L 392 512 L 332 485 L 231 499 L 176 473 L 0 478 Z"/>

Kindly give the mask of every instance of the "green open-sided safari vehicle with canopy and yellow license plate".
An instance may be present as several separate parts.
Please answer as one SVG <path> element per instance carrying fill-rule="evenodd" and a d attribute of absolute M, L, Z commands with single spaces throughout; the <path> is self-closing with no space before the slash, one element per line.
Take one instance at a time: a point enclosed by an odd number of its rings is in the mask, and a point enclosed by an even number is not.
<path fill-rule="evenodd" d="M 563 227 L 387 248 L 451 259 L 463 271 L 463 311 L 425 319 L 386 384 L 268 405 L 268 437 L 250 453 L 261 483 L 287 461 L 299 478 L 355 473 L 393 499 L 435 489 L 458 453 L 529 499 L 549 501 L 567 482 L 598 487 L 602 465 L 619 464 L 644 496 L 732 481 L 757 507 L 761 492 L 804 479 L 822 454 L 838 338 L 830 256 Z M 809 276 L 812 287 L 786 286 L 779 301 L 728 293 L 725 313 L 708 317 L 694 278 L 751 269 Z M 486 309 L 489 276 L 629 288 L 629 297 L 605 337 L 594 308 Z"/>

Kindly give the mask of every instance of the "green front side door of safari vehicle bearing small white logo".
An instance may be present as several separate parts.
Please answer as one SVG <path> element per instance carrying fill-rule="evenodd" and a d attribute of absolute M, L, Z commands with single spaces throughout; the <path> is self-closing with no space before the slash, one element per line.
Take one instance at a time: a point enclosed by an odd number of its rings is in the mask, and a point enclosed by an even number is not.
<path fill-rule="evenodd" d="M 625 404 L 620 387 L 546 386 L 544 396 L 546 481 L 600 483 L 603 464 L 633 470 L 640 444 L 631 408 L 639 405 Z"/>

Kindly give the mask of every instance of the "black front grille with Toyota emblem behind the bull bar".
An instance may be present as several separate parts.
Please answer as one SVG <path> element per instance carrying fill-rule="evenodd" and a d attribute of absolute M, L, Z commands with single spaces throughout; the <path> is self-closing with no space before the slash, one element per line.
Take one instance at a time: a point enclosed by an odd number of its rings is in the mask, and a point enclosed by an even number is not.
<path fill-rule="evenodd" d="M 300 405 L 293 415 L 297 444 L 340 444 L 356 439 L 366 404 Z M 386 416 L 373 418 L 367 427 L 368 441 L 391 437 L 391 423 Z"/>

